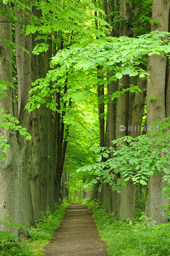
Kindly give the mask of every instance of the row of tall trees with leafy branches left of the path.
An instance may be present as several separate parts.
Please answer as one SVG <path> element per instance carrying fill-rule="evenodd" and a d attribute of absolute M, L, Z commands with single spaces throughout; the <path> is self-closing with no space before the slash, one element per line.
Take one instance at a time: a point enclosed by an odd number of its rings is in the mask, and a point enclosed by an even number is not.
<path fill-rule="evenodd" d="M 31 88 L 35 84 L 41 87 L 47 73 L 55 71 L 49 64 L 52 56 L 63 50 L 64 42 L 70 47 L 74 41 L 73 29 L 78 37 L 83 34 L 78 20 L 82 18 L 83 23 L 88 19 L 83 17 L 84 5 L 82 2 L 77 8 L 72 1 L 0 3 L 1 221 L 10 215 L 14 223 L 29 228 L 41 211 L 53 211 L 54 202 L 58 203 L 69 135 L 64 117 L 74 103 L 64 100 L 70 88 L 67 80 L 61 87 L 51 81 L 41 93 L 47 103 L 53 101 L 51 108 L 41 104 L 43 101 L 32 112 L 25 106 Z M 50 89 L 54 89 L 52 95 Z M 6 229 L 29 237 L 27 231 L 1 225 L 1 230 Z"/>

